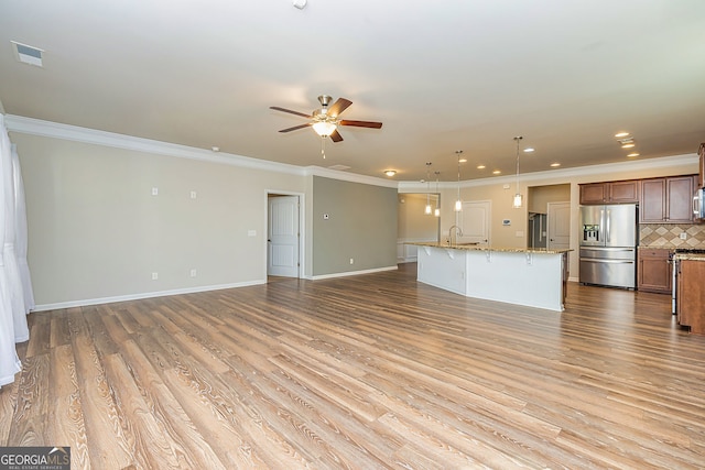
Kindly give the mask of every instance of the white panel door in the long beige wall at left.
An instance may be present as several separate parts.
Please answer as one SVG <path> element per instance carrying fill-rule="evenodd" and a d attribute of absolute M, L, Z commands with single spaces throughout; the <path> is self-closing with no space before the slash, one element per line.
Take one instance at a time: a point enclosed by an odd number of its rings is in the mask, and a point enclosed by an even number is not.
<path fill-rule="evenodd" d="M 299 277 L 299 196 L 269 198 L 267 274 Z"/>

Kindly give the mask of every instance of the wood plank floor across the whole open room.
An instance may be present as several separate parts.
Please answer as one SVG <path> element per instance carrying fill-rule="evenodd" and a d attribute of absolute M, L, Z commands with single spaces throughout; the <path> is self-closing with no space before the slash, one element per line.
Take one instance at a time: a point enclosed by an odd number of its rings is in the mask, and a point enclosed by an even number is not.
<path fill-rule="evenodd" d="M 511 288 L 511 286 L 508 286 Z M 705 467 L 705 337 L 668 296 L 558 314 L 398 272 L 30 315 L 0 446 L 76 469 Z"/>

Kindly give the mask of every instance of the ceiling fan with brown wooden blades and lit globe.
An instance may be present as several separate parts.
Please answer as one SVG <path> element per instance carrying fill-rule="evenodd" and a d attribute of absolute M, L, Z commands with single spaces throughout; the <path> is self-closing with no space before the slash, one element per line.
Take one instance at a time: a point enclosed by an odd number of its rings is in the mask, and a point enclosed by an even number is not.
<path fill-rule="evenodd" d="M 333 142 L 340 142 L 343 136 L 338 132 L 338 125 L 351 125 L 357 128 L 371 128 L 371 129 L 380 129 L 382 127 L 381 122 L 372 122 L 372 121 L 351 121 L 347 119 L 340 119 L 340 113 L 348 109 L 352 101 L 338 98 L 336 102 L 332 106 L 330 101 L 332 97 L 328 95 L 321 95 L 318 97 L 318 102 L 321 102 L 321 109 L 314 110 L 311 114 L 306 114 L 305 112 L 292 111 L 291 109 L 280 108 L 279 106 L 270 106 L 270 109 L 274 109 L 276 111 L 289 112 L 291 114 L 301 116 L 303 118 L 308 118 L 311 121 L 305 124 L 294 125 L 293 128 L 282 129 L 279 132 L 291 132 L 299 129 L 304 129 L 312 127 L 313 130 L 321 135 L 322 138 L 329 136 Z"/>

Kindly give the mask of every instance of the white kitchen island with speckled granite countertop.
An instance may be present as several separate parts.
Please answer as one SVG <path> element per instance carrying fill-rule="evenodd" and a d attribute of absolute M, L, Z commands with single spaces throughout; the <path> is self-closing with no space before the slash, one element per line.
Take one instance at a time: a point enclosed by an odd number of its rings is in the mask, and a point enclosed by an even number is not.
<path fill-rule="evenodd" d="M 571 250 L 410 244 L 419 247 L 419 282 L 467 297 L 564 309 Z"/>

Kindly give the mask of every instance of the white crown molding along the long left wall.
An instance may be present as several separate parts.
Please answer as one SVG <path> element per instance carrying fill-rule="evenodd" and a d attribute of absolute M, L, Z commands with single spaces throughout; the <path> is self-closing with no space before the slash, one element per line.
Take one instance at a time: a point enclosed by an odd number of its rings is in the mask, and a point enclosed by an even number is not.
<path fill-rule="evenodd" d="M 249 156 L 242 156 L 226 152 L 216 153 L 205 149 L 161 142 L 151 139 L 135 138 L 132 135 L 99 131 L 96 129 L 80 128 L 77 125 L 62 124 L 58 122 L 25 118 L 22 116 L 6 114 L 4 121 L 6 127 L 10 132 L 63 139 L 95 145 L 175 156 L 178 159 L 198 160 L 202 162 L 220 163 L 225 165 L 262 170 L 268 172 L 288 173 L 294 175 L 305 174 L 305 170 L 301 166 L 252 159 Z"/>

